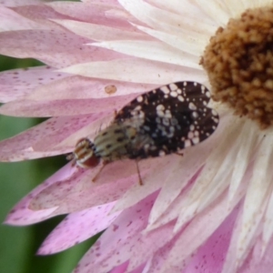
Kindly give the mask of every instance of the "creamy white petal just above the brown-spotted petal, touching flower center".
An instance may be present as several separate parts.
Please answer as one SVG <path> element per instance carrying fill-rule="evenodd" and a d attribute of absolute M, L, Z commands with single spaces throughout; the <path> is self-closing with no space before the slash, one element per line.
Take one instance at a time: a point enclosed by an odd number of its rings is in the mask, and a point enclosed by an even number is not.
<path fill-rule="evenodd" d="M 81 76 L 155 85 L 165 85 L 181 81 L 181 79 L 202 83 L 207 79 L 205 72 L 197 69 L 137 58 L 79 64 L 68 66 L 60 71 Z"/>

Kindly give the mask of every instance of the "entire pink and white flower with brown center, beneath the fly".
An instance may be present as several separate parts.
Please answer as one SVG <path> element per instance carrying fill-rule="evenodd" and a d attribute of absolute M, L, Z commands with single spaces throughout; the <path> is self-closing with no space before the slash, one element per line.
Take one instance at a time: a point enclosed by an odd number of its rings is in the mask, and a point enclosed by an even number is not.
<path fill-rule="evenodd" d="M 46 66 L 1 74 L 0 113 L 53 116 L 0 143 L 3 161 L 65 154 L 137 93 L 177 81 L 212 92 L 216 132 L 184 157 L 68 164 L 6 222 L 68 214 L 39 254 L 105 230 L 76 272 L 270 272 L 273 2 L 1 1 L 0 53 Z M 9 5 L 9 6 L 8 6 Z"/>

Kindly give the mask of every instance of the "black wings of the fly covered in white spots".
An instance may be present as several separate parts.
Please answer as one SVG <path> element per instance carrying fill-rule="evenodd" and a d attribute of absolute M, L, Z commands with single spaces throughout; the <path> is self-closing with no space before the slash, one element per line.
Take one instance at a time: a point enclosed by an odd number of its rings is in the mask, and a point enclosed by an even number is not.
<path fill-rule="evenodd" d="M 159 157 L 194 146 L 217 128 L 210 93 L 196 82 L 177 82 L 137 96 L 115 122 L 136 127 L 130 158 Z M 139 141 L 137 141 L 139 140 Z"/>

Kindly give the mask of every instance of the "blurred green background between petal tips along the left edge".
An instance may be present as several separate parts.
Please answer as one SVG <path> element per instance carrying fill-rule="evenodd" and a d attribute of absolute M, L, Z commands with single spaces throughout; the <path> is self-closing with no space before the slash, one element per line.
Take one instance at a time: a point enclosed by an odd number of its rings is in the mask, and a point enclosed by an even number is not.
<path fill-rule="evenodd" d="M 27 66 L 39 66 L 32 59 L 15 59 L 0 56 L 0 70 Z M 44 121 L 39 118 L 0 116 L 0 140 L 26 130 Z M 46 177 L 66 164 L 66 157 L 50 157 L 24 162 L 0 162 L 0 221 L 15 204 Z M 94 239 L 52 256 L 36 256 L 35 253 L 46 236 L 64 217 L 55 217 L 29 227 L 0 225 L 1 273 L 68 273 L 90 248 Z"/>

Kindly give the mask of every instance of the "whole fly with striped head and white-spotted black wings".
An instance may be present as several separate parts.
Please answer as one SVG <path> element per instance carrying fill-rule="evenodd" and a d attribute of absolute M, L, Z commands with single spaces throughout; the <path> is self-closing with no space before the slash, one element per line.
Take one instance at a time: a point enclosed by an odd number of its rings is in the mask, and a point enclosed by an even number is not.
<path fill-rule="evenodd" d="M 96 167 L 102 160 L 93 181 L 106 164 L 134 158 L 142 185 L 138 159 L 179 152 L 213 134 L 219 118 L 207 106 L 209 99 L 207 88 L 195 82 L 161 86 L 123 107 L 94 139 L 80 139 L 67 158 L 78 167 Z"/>

